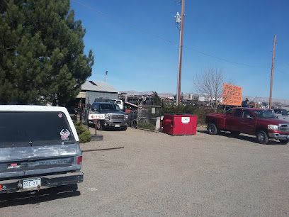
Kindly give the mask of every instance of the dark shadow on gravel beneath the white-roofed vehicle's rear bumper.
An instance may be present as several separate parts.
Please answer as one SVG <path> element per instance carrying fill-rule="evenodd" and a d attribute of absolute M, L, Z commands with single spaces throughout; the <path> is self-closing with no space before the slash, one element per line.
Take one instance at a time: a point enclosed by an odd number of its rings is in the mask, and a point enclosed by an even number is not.
<path fill-rule="evenodd" d="M 56 193 L 54 189 L 43 189 L 39 192 L 35 192 L 34 194 L 31 194 L 31 192 L 0 194 L 0 208 L 25 204 L 40 204 L 46 201 L 79 195 L 80 191 L 64 191 Z"/>

